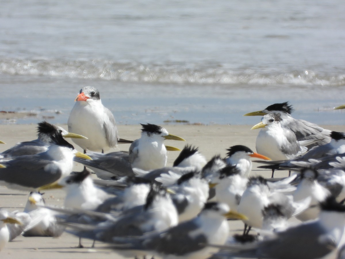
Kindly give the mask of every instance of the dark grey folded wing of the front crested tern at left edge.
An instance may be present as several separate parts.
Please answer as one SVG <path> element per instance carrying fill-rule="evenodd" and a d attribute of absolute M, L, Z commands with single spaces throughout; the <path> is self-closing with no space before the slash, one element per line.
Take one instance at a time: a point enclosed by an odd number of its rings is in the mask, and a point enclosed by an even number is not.
<path fill-rule="evenodd" d="M 27 188 L 39 188 L 60 179 L 61 169 L 46 155 L 19 156 L 3 163 L 0 181 L 19 184 Z"/>

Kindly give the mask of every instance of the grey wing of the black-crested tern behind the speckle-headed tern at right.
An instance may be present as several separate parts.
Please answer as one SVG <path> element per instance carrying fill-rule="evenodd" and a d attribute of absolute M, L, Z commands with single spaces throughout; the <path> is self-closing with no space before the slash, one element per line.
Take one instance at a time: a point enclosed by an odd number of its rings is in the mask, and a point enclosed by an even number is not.
<path fill-rule="evenodd" d="M 294 119 L 289 124 L 285 125 L 285 127 L 296 134 L 298 141 L 324 139 L 313 144 L 313 146 L 324 145 L 331 141 L 331 137 L 329 136 L 330 132 L 314 123 L 310 123 L 302 119 Z"/>

